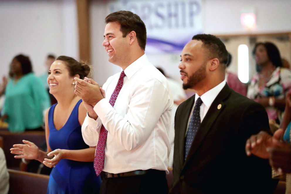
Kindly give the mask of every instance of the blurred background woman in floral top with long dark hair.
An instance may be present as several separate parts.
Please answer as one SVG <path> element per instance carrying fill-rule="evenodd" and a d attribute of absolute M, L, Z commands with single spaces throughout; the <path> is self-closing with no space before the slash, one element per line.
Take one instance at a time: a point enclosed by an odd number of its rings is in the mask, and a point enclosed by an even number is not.
<path fill-rule="evenodd" d="M 253 56 L 258 73 L 248 85 L 247 97 L 266 108 L 274 132 L 285 108 L 285 94 L 291 88 L 291 72 L 283 68 L 280 52 L 273 43 L 256 43 Z"/>

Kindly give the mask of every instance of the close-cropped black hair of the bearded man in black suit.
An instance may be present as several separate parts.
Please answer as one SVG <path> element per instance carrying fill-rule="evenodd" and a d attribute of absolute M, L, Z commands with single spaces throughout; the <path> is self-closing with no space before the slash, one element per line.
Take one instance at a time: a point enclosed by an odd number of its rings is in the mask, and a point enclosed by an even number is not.
<path fill-rule="evenodd" d="M 197 34 L 193 36 L 192 40 L 202 41 L 202 46 L 209 51 L 209 57 L 218 58 L 219 63 L 227 64 L 228 52 L 219 38 L 211 34 Z"/>

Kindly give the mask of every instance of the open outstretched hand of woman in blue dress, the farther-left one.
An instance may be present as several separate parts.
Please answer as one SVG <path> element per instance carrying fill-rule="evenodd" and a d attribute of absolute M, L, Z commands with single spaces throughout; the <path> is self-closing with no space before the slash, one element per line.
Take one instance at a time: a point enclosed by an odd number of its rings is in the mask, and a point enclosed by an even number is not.
<path fill-rule="evenodd" d="M 38 146 L 26 140 L 22 140 L 24 144 L 14 144 L 10 149 L 12 154 L 16 154 L 14 158 L 37 159 Z"/>

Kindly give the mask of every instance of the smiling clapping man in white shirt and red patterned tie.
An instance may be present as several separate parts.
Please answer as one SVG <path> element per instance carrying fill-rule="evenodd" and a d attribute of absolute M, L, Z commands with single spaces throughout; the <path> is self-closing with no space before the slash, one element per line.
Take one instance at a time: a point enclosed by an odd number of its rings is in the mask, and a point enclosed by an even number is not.
<path fill-rule="evenodd" d="M 102 170 L 100 192 L 168 193 L 173 99 L 167 80 L 145 55 L 146 27 L 138 15 L 118 11 L 105 22 L 102 45 L 109 62 L 123 71 L 102 88 L 92 79 L 75 78 L 75 93 L 88 110 L 82 135 L 86 144 L 97 145 L 95 158 L 102 152 L 102 127 L 108 131 L 104 167 L 102 155 L 94 163 L 97 175 Z"/>

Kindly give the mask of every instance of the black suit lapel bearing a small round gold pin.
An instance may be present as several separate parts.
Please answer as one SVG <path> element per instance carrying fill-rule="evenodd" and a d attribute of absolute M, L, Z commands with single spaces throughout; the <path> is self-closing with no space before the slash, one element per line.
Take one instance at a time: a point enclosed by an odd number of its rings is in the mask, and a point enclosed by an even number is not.
<path fill-rule="evenodd" d="M 229 96 L 230 92 L 231 92 L 231 90 L 230 90 L 229 86 L 226 84 L 222 88 L 222 90 L 219 92 L 217 97 L 214 99 L 214 101 L 212 102 L 211 106 L 209 107 L 209 109 L 208 109 L 208 111 L 207 111 L 195 137 L 194 137 L 194 140 L 192 142 L 192 145 L 191 145 L 190 151 L 188 153 L 188 156 L 186 158 L 186 161 L 184 163 L 184 166 L 189 161 L 189 158 L 191 158 L 193 156 L 195 151 L 197 151 L 197 149 L 201 145 L 202 141 L 205 139 L 205 136 L 207 136 L 208 132 L 210 131 L 211 126 L 215 122 L 216 118 L 218 117 L 220 112 L 224 109 L 225 104 L 224 104 L 223 100 Z M 217 130 L 217 129 L 212 129 L 212 130 Z"/>

